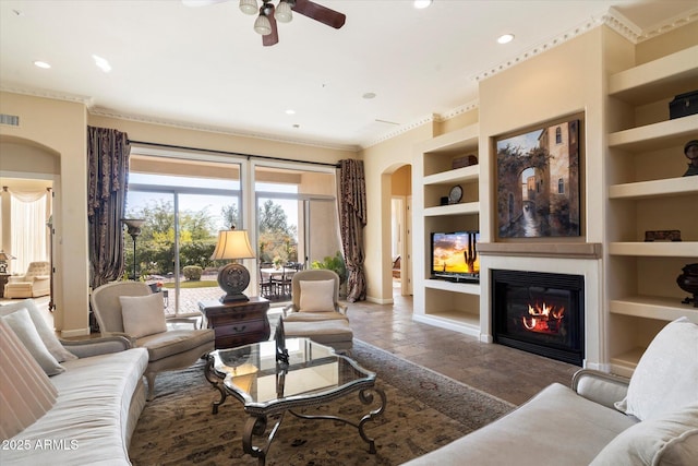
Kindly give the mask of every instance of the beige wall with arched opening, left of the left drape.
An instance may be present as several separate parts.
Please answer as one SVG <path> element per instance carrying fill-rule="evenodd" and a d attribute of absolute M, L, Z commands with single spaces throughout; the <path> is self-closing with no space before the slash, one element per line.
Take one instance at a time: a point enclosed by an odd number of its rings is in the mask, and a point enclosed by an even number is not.
<path fill-rule="evenodd" d="M 19 127 L 0 128 L 2 143 L 40 146 L 59 158 L 60 180 L 53 188 L 56 228 L 56 327 L 67 336 L 88 328 L 87 179 L 85 106 L 19 94 L 0 93 L 0 112 L 20 117 Z M 4 171 L 5 159 L 0 154 Z M 1 174 L 0 174 L 1 175 Z"/>

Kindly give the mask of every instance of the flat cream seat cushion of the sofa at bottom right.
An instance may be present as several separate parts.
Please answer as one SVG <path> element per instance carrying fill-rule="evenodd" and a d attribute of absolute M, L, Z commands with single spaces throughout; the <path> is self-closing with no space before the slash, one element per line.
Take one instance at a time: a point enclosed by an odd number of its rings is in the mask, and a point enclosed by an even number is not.
<path fill-rule="evenodd" d="M 508 415 L 406 465 L 588 465 L 636 422 L 554 383 Z"/>

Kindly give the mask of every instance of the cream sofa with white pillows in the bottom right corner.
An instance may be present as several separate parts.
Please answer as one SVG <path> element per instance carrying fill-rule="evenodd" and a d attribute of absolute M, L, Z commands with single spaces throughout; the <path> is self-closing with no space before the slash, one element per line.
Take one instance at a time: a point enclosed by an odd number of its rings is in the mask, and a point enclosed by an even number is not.
<path fill-rule="evenodd" d="M 666 325 L 629 380 L 580 370 L 406 465 L 698 465 L 698 325 Z"/>

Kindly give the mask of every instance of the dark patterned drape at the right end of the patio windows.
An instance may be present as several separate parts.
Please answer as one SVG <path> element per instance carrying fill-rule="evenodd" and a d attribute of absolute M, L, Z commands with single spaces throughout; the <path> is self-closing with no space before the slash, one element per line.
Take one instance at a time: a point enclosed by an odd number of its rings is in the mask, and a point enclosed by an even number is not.
<path fill-rule="evenodd" d="M 363 270 L 363 228 L 366 226 L 366 182 L 363 162 L 339 160 L 339 231 L 349 271 L 347 301 L 366 299 L 366 277 Z"/>

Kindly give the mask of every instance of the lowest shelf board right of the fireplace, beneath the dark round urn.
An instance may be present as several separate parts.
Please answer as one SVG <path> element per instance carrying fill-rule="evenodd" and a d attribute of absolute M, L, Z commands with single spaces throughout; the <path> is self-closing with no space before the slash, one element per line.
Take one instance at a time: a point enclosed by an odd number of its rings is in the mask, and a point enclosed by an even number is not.
<path fill-rule="evenodd" d="M 612 299 L 610 310 L 612 314 L 657 319 L 667 322 L 681 316 L 687 316 L 693 322 L 698 323 L 698 308 L 693 304 L 683 304 L 677 298 L 629 296 L 622 299 Z"/>

